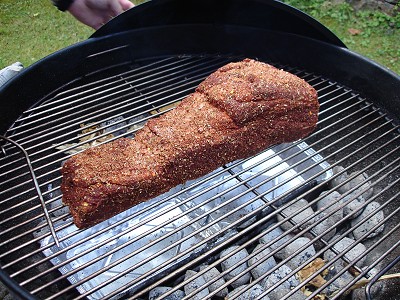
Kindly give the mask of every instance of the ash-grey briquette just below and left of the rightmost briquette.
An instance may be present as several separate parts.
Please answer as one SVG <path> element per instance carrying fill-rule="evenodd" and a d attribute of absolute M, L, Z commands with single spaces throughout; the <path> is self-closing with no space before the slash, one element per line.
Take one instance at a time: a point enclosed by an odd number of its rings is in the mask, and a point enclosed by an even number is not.
<path fill-rule="evenodd" d="M 365 262 L 365 258 L 366 258 L 364 253 L 367 250 L 367 248 L 362 243 L 356 243 L 355 240 L 348 238 L 348 237 L 344 237 L 343 239 L 338 241 L 333 246 L 333 248 L 336 251 L 338 251 L 338 253 L 345 252 L 346 254 L 344 255 L 344 257 L 348 261 L 352 261 L 356 258 L 360 258 L 357 261 L 356 265 L 360 268 L 364 266 L 364 262 Z M 336 258 L 336 256 L 337 255 L 332 250 L 327 250 L 324 253 L 324 260 L 331 261 L 334 258 Z M 347 263 L 342 258 L 339 258 L 334 264 L 335 268 L 338 271 L 341 270 L 345 265 L 347 265 Z"/>

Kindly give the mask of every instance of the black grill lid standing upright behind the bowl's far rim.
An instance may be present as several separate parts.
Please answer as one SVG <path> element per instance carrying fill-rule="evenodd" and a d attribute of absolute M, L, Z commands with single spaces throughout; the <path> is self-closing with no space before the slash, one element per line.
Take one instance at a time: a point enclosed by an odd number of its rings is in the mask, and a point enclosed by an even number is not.
<path fill-rule="evenodd" d="M 184 9 L 182 9 L 184 7 Z M 259 12 L 262 11 L 262 14 Z M 201 13 L 199 13 L 201 12 Z M 251 18 L 247 16 L 250 15 Z M 92 37 L 109 36 L 137 28 L 177 24 L 229 24 L 283 31 L 339 47 L 346 45 L 319 21 L 276 0 L 157 0 L 145 2 L 112 19 Z"/>

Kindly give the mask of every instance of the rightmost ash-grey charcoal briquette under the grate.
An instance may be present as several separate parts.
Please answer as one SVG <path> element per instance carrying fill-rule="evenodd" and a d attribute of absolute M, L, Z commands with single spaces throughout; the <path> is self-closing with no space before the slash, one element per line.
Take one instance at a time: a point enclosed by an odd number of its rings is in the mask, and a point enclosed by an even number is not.
<path fill-rule="evenodd" d="M 351 220 L 352 227 L 355 227 L 360 222 L 362 222 L 361 225 L 359 225 L 357 228 L 354 228 L 353 230 L 353 236 L 355 239 L 361 238 L 364 234 L 370 232 L 372 228 L 374 228 L 384 220 L 385 216 L 380 207 L 381 205 L 378 202 L 371 202 L 365 207 L 364 211 L 361 213 L 360 216 L 358 216 L 354 220 Z M 369 216 L 373 212 L 376 213 L 373 214 L 372 216 Z M 375 230 L 372 230 L 371 233 L 369 233 L 365 238 L 373 238 L 377 236 L 384 230 L 384 228 L 385 228 L 384 224 L 380 225 Z"/>

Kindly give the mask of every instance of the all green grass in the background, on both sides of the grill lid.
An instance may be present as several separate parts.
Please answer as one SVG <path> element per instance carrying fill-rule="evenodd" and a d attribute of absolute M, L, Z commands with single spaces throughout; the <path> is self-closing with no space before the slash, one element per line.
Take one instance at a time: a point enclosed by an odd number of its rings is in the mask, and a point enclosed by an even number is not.
<path fill-rule="evenodd" d="M 136 4 L 144 1 L 134 1 Z M 356 12 L 346 2 L 286 0 L 333 31 L 351 50 L 400 74 L 400 14 Z M 94 31 L 50 0 L 0 1 L 0 69 L 15 61 L 24 66 L 87 39 Z"/>

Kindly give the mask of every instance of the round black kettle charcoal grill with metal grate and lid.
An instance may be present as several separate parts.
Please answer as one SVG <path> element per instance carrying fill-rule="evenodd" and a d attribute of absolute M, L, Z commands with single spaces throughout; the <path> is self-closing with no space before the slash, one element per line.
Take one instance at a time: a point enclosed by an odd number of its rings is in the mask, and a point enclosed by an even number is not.
<path fill-rule="evenodd" d="M 309 82 L 321 104 L 317 130 L 77 230 L 61 203 L 63 161 L 88 146 L 133 136 L 146 120 L 173 109 L 208 74 L 244 57 Z M 219 299 L 219 292 L 232 293 L 233 283 L 300 237 L 307 242 L 276 259 L 261 277 L 252 276 L 236 296 L 262 286 L 310 246 L 314 253 L 252 299 L 272 297 L 328 250 L 333 257 L 322 269 L 282 299 L 298 299 L 299 293 L 300 299 L 399 295 L 395 279 L 376 282 L 399 269 L 400 78 L 349 51 L 292 7 L 255 0 L 147 2 L 87 41 L 27 68 L 2 87 L 0 99 L 0 278 L 18 298 L 147 299 L 154 288 L 168 286 L 166 297 L 193 286 L 215 267 L 219 275 L 187 290 L 184 299 Z M 332 187 L 346 173 L 351 175 Z M 317 210 L 322 192 L 332 194 L 364 173 L 368 178 Z M 356 211 L 316 230 L 371 187 L 373 194 Z M 300 199 L 306 206 L 287 213 Z M 371 202 L 380 206 L 354 221 Z M 296 218 L 309 209 L 312 214 Z M 354 237 L 354 230 L 378 213 L 383 217 Z M 289 223 L 289 229 L 256 248 L 267 233 Z M 336 234 L 328 239 L 333 227 Z M 336 242 L 349 236 L 353 242 L 337 249 Z M 365 249 L 349 255 L 358 243 Z M 226 249 L 234 250 L 222 257 Z M 260 257 L 265 249 L 269 254 Z M 248 256 L 222 269 L 221 263 L 243 251 Z M 249 264 L 252 259 L 256 262 Z M 334 269 L 340 261 L 344 268 Z M 185 278 L 188 270 L 197 273 Z M 320 273 L 328 273 L 324 283 L 308 288 L 305 296 L 304 288 Z M 350 279 L 328 293 L 343 274 Z M 223 285 L 200 296 L 223 277 Z M 353 292 L 365 279 L 371 280 L 365 293 Z"/>

